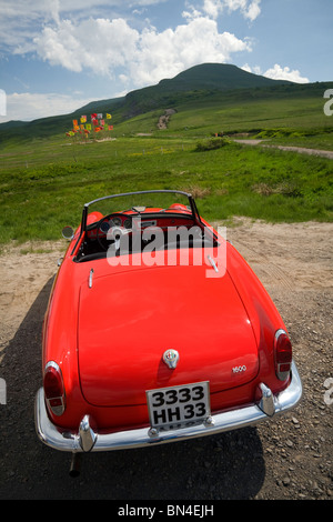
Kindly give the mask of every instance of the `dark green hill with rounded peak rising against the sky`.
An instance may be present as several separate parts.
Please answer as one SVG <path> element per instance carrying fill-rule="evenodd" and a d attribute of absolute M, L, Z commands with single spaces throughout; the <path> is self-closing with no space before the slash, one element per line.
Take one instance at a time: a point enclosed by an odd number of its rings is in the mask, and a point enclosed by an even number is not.
<path fill-rule="evenodd" d="M 172 79 L 161 80 L 157 86 L 138 89 L 123 98 L 99 100 L 80 108 L 70 114 L 34 120 L 31 122 L 11 121 L 0 124 L 0 140 L 27 140 L 31 137 L 44 138 L 67 132 L 73 119 L 90 112 L 112 112 L 112 123 L 115 127 L 142 114 L 148 114 L 148 127 L 152 127 L 155 114 L 167 108 L 175 110 L 205 111 L 211 113 L 221 107 L 244 107 L 252 104 L 255 114 L 255 103 L 268 101 L 266 111 L 281 111 L 276 100 L 304 100 L 306 110 L 307 99 L 322 100 L 325 89 L 332 83 L 296 84 L 286 81 L 271 80 L 252 74 L 235 66 L 221 63 L 203 63 L 181 72 Z M 270 106 L 271 103 L 271 106 Z M 279 114 L 275 114 L 279 117 Z M 262 118 L 261 120 L 264 120 Z M 251 128 L 258 127 L 252 124 Z M 135 129 L 135 120 L 131 131 Z M 140 129 L 139 129 L 140 130 Z"/>

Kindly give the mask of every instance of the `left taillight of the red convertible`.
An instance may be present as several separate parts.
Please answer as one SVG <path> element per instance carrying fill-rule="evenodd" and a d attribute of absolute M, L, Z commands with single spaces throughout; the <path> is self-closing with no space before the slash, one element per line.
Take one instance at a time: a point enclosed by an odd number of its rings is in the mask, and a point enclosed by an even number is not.
<path fill-rule="evenodd" d="M 62 373 L 54 361 L 44 368 L 43 388 L 47 403 L 54 415 L 62 415 L 65 409 L 65 394 Z"/>

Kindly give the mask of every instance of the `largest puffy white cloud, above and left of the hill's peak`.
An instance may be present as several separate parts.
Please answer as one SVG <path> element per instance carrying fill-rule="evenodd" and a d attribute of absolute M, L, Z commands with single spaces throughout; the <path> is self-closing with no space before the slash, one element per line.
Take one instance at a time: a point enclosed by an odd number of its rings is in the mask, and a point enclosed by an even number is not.
<path fill-rule="evenodd" d="M 225 62 L 232 53 L 251 51 L 249 41 L 220 33 L 215 20 L 195 16 L 175 29 L 142 32 L 123 19 L 62 20 L 33 39 L 36 52 L 51 64 L 80 72 L 123 78 L 142 87 L 202 62 Z"/>

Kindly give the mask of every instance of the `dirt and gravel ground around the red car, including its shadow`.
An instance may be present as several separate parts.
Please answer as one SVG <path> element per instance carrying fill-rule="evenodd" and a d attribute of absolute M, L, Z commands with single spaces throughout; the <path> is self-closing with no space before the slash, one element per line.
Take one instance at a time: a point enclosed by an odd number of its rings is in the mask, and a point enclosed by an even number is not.
<path fill-rule="evenodd" d="M 228 238 L 290 330 L 304 387 L 297 408 L 212 438 L 90 454 L 81 475 L 70 479 L 70 456 L 42 445 L 33 421 L 42 319 L 65 244 L 47 245 L 48 253 L 10 249 L 0 257 L 0 378 L 7 383 L 7 404 L 0 404 L 0 499 L 333 499 L 333 391 L 324 384 L 333 377 L 333 223 L 241 220 Z"/>

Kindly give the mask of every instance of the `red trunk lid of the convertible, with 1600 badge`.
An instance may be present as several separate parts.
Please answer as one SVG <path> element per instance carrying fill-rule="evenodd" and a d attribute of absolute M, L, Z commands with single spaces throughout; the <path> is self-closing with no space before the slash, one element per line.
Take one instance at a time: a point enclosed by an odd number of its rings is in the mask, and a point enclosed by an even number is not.
<path fill-rule="evenodd" d="M 91 288 L 90 288 L 91 287 Z M 210 381 L 211 393 L 258 374 L 258 347 L 228 272 L 203 267 L 132 269 L 82 284 L 79 369 L 93 405 L 143 404 L 145 391 Z M 170 369 L 167 350 L 179 361 Z"/>

